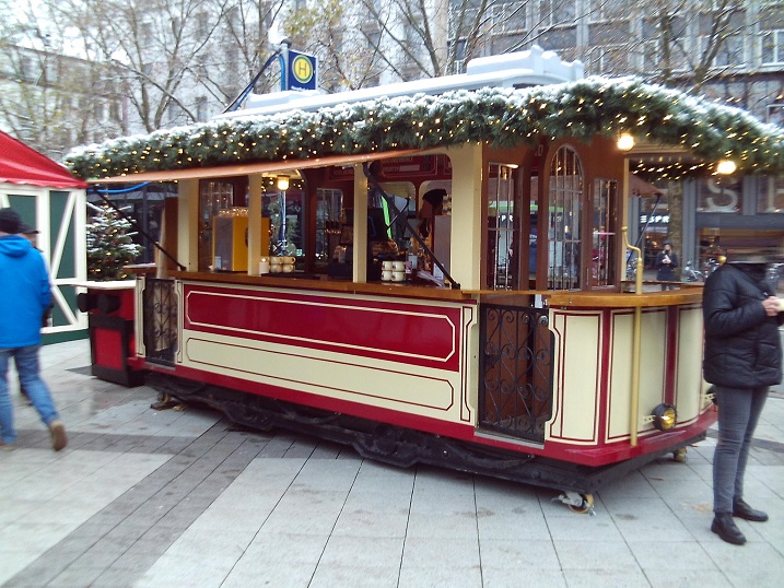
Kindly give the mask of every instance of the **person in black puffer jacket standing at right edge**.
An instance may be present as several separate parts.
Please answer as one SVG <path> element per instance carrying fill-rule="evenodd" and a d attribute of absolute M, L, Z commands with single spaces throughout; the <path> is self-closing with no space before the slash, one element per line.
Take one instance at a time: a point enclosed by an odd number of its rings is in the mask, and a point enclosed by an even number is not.
<path fill-rule="evenodd" d="M 764 258 L 730 259 L 709 275 L 702 298 L 705 326 L 703 375 L 714 385 L 718 440 L 713 457 L 711 530 L 741 545 L 746 537 L 733 517 L 765 521 L 744 501 L 749 445 L 771 386 L 782 380 L 779 326 L 784 321 Z"/>

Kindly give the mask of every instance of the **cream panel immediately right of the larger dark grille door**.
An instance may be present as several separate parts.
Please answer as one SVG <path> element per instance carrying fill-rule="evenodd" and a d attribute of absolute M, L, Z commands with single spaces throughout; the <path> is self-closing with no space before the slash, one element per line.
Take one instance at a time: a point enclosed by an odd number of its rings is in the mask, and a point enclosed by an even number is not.
<path fill-rule="evenodd" d="M 555 333 L 555 373 L 548 438 L 595 444 L 601 388 L 601 311 L 553 310 L 550 325 Z"/>

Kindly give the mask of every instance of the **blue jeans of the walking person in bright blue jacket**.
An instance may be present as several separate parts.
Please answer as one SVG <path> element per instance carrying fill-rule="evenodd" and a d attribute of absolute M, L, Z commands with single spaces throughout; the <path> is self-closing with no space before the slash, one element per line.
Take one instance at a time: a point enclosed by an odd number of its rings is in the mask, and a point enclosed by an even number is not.
<path fill-rule="evenodd" d="M 30 401 L 38 411 L 44 424 L 49 426 L 51 421 L 59 419 L 49 388 L 40 379 L 38 373 L 39 346 L 0 349 L 0 438 L 7 445 L 16 440 L 16 430 L 13 427 L 13 404 L 8 390 L 8 364 L 11 357 L 16 363 L 20 385 L 27 392 Z"/>

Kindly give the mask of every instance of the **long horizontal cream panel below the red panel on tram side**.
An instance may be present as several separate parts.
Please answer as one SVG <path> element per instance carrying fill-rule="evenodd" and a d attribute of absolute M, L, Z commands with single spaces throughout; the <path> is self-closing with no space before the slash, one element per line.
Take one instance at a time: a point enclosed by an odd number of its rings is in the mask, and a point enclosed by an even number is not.
<path fill-rule="evenodd" d="M 460 374 L 185 330 L 183 365 L 340 400 L 459 420 Z M 265 349 L 260 349 L 264 345 Z"/>

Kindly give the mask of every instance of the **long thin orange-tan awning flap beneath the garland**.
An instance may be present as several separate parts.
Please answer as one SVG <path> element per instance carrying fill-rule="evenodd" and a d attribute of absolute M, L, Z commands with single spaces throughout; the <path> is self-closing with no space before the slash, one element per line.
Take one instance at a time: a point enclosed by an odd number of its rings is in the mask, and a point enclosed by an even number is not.
<path fill-rule="evenodd" d="M 400 151 L 384 151 L 378 153 L 364 153 L 359 155 L 330 155 L 328 157 L 313 157 L 308 160 L 285 160 L 278 162 L 258 162 L 238 165 L 221 165 L 215 167 L 191 167 L 188 169 L 167 169 L 163 172 L 144 172 L 114 176 L 101 179 L 91 179 L 90 184 L 133 184 L 138 181 L 175 181 L 180 179 L 225 178 L 234 176 L 249 176 L 255 174 L 278 174 L 295 169 L 312 169 L 314 167 L 348 166 L 358 163 L 387 160 L 390 157 L 409 157 L 426 153 L 423 150 L 409 149 Z"/>

